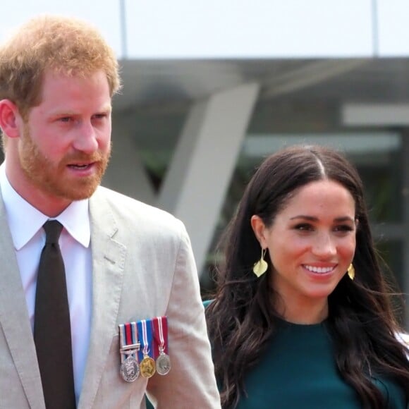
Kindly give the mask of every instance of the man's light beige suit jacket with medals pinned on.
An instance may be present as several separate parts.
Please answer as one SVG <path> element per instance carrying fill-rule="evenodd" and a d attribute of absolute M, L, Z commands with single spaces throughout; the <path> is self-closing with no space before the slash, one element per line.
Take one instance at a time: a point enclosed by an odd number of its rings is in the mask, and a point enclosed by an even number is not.
<path fill-rule="evenodd" d="M 92 326 L 78 409 L 220 408 L 190 241 L 181 221 L 98 188 L 90 199 Z M 0 408 L 45 409 L 25 295 L 0 197 Z M 166 315 L 171 371 L 119 374 L 118 324 Z M 58 370 L 58 368 L 56 368 Z"/>

